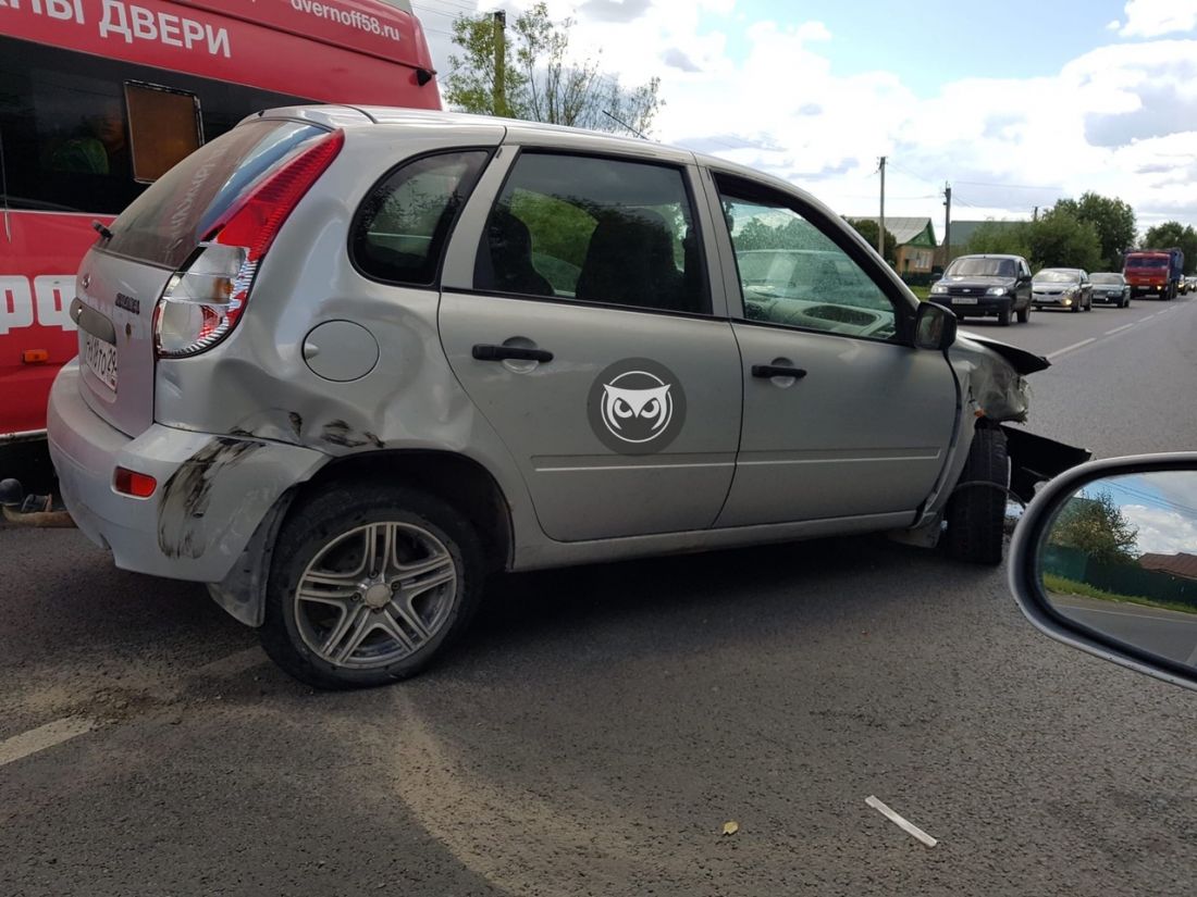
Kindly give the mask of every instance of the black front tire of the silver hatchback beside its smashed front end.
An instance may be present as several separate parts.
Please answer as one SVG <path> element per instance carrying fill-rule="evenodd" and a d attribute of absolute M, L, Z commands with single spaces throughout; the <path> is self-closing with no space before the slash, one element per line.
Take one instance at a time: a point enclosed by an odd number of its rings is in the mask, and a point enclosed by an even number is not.
<path fill-rule="evenodd" d="M 948 527 L 943 533 L 948 554 L 970 563 L 996 566 L 1002 562 L 1009 482 L 1005 434 L 996 428 L 978 429 L 973 433 L 956 492 L 948 500 Z"/>

